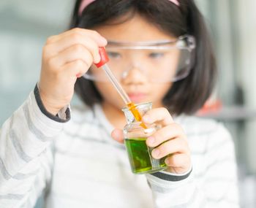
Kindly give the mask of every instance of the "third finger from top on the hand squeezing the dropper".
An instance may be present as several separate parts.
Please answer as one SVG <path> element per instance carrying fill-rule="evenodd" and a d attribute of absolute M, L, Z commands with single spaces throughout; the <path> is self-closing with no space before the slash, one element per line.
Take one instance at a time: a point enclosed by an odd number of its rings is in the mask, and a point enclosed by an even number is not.
<path fill-rule="evenodd" d="M 93 63 L 91 53 L 89 53 L 89 50 L 87 50 L 86 47 L 83 47 L 83 45 L 72 45 L 67 48 L 67 50 L 62 51 L 55 57 L 51 58 L 50 63 L 52 63 L 52 66 L 60 68 L 69 62 L 77 60 L 84 61 L 87 64 L 86 69 L 89 69 Z M 85 72 L 87 72 L 87 70 Z"/>

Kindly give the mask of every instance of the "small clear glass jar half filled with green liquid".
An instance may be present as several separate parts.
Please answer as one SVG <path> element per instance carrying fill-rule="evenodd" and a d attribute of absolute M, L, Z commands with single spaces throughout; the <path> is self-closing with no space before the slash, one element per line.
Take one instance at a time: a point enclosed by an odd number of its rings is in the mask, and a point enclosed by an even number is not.
<path fill-rule="evenodd" d="M 143 117 L 143 115 L 152 108 L 152 103 L 136 104 L 135 107 L 138 109 L 138 112 L 140 112 L 141 117 Z M 154 134 L 161 126 L 154 123 L 147 125 L 147 128 L 143 128 L 140 125 L 142 122 L 135 120 L 128 107 L 123 108 L 122 111 L 127 119 L 127 125 L 124 126 L 123 129 L 124 144 L 127 149 L 132 172 L 135 174 L 145 174 L 166 169 L 166 157 L 161 159 L 153 158 L 151 151 L 154 148 L 146 145 L 148 136 Z"/>

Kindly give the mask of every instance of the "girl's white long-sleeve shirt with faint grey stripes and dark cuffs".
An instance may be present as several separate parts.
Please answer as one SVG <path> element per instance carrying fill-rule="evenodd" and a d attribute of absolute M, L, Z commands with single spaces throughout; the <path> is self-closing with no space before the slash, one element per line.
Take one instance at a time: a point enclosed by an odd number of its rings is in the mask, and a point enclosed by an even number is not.
<path fill-rule="evenodd" d="M 192 152 L 192 172 L 132 174 L 124 145 L 99 105 L 53 118 L 38 90 L 0 133 L 0 207 L 239 207 L 230 134 L 213 120 L 179 116 Z"/>

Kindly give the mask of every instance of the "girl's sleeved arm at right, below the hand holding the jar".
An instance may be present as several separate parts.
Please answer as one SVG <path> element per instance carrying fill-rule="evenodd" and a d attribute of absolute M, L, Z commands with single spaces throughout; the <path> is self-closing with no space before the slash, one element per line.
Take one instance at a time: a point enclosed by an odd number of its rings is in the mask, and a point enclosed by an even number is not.
<path fill-rule="evenodd" d="M 209 135 L 200 174 L 148 175 L 156 207 L 239 207 L 236 158 L 230 134 L 218 125 Z M 203 157 L 203 156 L 202 156 Z"/>

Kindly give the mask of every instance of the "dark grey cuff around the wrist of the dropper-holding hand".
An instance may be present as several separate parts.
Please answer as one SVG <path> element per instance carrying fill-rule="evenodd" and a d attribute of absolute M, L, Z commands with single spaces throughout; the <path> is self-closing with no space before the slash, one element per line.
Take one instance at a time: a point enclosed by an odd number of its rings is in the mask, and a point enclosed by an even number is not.
<path fill-rule="evenodd" d="M 37 105 L 38 105 L 39 109 L 48 118 L 50 118 L 51 120 L 55 120 L 56 122 L 59 122 L 59 123 L 66 123 L 67 121 L 70 120 L 70 106 L 69 106 L 69 104 L 66 107 L 62 108 L 58 112 L 57 115 L 53 115 L 50 112 L 48 112 L 47 109 L 45 109 L 44 105 L 42 104 L 42 99 L 40 97 L 39 89 L 38 89 L 37 85 L 34 87 L 34 96 L 35 96 L 35 99 L 37 101 Z"/>

